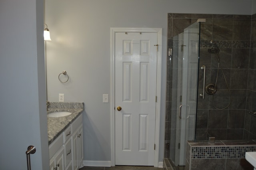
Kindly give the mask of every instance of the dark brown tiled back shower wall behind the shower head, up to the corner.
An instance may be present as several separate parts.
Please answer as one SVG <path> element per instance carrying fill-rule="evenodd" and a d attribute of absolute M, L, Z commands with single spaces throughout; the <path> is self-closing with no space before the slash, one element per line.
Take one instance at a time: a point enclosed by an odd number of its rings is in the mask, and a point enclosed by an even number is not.
<path fill-rule="evenodd" d="M 209 40 L 214 40 L 220 48 L 220 61 L 226 76 L 229 95 L 224 76 L 218 75 L 218 91 L 214 95 L 198 97 L 196 140 L 239 140 L 244 135 L 248 68 L 250 59 L 251 16 L 221 15 L 201 23 L 200 63 L 206 65 L 206 85 L 216 82 L 218 60 L 215 54 L 208 53 Z M 199 71 L 198 93 L 202 93 L 202 71 Z M 228 109 L 222 109 L 231 100 Z"/>

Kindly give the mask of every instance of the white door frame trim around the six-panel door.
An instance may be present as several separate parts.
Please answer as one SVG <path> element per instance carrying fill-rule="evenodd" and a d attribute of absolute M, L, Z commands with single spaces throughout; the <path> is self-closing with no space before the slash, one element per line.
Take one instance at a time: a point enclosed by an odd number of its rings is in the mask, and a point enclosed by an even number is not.
<path fill-rule="evenodd" d="M 161 70 L 162 70 L 162 28 L 110 28 L 110 129 L 111 129 L 111 166 L 115 166 L 115 33 L 116 32 L 154 32 L 157 33 L 157 73 L 156 73 L 156 127 L 154 166 L 158 167 L 159 134 L 160 134 L 160 99 L 161 99 Z"/>

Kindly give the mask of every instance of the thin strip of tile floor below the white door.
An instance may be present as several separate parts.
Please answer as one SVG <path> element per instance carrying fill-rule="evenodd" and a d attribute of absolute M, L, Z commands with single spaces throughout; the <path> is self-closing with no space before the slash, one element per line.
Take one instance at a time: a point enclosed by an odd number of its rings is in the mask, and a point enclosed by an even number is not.
<path fill-rule="evenodd" d="M 79 170 L 164 170 L 164 168 L 156 168 L 153 166 L 112 166 L 112 167 L 84 166 Z"/>

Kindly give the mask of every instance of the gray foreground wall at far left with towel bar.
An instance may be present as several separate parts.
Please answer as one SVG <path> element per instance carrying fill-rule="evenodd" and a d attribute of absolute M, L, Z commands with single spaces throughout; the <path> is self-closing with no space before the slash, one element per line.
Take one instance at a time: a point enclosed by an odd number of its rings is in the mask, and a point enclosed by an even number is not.
<path fill-rule="evenodd" d="M 49 169 L 43 0 L 0 1 L 0 169 Z"/>

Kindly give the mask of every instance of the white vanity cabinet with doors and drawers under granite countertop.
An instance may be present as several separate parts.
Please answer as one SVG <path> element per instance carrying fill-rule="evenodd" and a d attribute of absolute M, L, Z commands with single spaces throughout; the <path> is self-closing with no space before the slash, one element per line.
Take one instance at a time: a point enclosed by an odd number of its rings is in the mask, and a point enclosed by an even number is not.
<path fill-rule="evenodd" d="M 78 170 L 83 160 L 82 115 L 50 145 L 50 170 Z"/>

